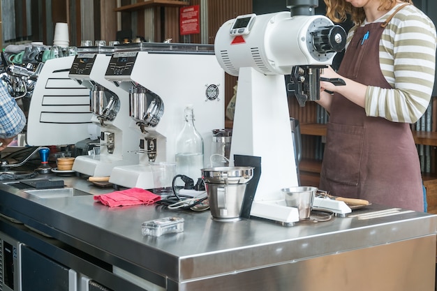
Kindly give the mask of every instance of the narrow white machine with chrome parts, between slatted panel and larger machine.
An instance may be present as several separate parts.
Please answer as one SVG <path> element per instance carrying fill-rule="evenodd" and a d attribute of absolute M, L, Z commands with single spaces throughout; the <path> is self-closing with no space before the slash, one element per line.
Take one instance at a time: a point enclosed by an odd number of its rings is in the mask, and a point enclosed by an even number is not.
<path fill-rule="evenodd" d="M 129 99 L 126 91 L 105 79 L 105 71 L 113 47 L 87 47 L 77 54 L 69 77 L 90 91 L 91 122 L 98 127 L 100 153 L 77 156 L 76 172 L 96 177 L 108 177 L 117 165 L 138 164 L 135 154 L 138 132 L 130 126 Z M 94 148 L 95 149 L 95 148 Z"/>

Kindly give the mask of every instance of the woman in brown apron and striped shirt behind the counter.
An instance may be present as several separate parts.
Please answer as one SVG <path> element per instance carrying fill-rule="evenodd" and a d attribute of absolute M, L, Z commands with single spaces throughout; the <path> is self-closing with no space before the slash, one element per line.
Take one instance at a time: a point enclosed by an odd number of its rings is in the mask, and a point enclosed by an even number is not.
<path fill-rule="evenodd" d="M 350 15 L 338 73 L 320 82 L 329 112 L 320 189 L 333 195 L 424 211 L 420 162 L 410 124 L 434 86 L 436 28 L 410 0 L 325 0 L 334 22 Z M 326 91 L 333 91 L 333 95 Z"/>

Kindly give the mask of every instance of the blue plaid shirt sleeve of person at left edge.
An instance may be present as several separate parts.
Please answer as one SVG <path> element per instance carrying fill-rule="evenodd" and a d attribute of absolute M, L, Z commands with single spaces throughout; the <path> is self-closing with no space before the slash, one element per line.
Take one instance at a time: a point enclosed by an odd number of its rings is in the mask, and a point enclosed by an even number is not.
<path fill-rule="evenodd" d="M 26 125 L 24 112 L 0 82 L 0 151 L 6 149 Z"/>

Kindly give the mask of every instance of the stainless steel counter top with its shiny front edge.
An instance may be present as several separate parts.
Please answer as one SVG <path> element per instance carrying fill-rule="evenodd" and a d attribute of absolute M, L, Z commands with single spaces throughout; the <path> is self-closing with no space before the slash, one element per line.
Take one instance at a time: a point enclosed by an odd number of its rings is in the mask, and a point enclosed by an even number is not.
<path fill-rule="evenodd" d="M 423 237 L 435 234 L 437 228 L 437 216 L 420 212 L 368 220 L 334 217 L 327 222 L 290 227 L 259 218 L 218 222 L 212 220 L 209 211 L 145 205 L 107 207 L 96 202 L 93 195 L 114 189 L 98 188 L 79 177 L 48 177 L 63 179 L 66 186 L 91 195 L 44 199 L 3 182 L 1 213 L 67 243 L 74 241 L 78 248 L 91 246 L 175 281 Z M 354 214 L 385 208 L 371 205 Z M 184 232 L 161 237 L 142 235 L 142 222 L 167 216 L 184 218 Z M 177 268 L 168 268 L 165 262 Z"/>

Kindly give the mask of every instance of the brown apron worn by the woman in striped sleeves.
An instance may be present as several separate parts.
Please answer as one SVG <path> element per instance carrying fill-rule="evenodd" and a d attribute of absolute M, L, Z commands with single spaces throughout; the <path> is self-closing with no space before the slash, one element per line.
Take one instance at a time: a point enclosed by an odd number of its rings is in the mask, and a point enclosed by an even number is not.
<path fill-rule="evenodd" d="M 357 28 L 340 75 L 365 85 L 392 88 L 379 64 L 379 40 L 391 17 L 384 24 Z M 409 124 L 366 117 L 364 108 L 334 94 L 319 188 L 336 196 L 424 211 L 419 156 Z"/>

